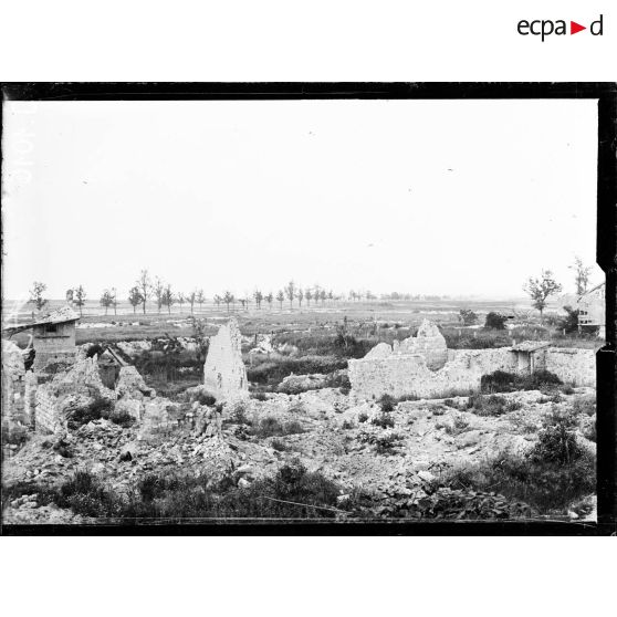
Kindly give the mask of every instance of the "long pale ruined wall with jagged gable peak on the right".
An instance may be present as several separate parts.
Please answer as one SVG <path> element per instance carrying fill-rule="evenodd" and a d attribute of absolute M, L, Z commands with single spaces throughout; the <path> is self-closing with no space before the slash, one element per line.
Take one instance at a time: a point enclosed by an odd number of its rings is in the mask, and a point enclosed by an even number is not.
<path fill-rule="evenodd" d="M 353 393 L 370 399 L 385 394 L 397 398 L 469 395 L 480 390 L 483 375 L 495 370 L 521 375 L 548 370 L 573 386 L 596 384 L 593 349 L 531 341 L 498 349 L 448 349 L 439 328 L 427 321 L 418 336 L 394 346 L 379 343 L 364 358 L 349 360 L 348 373 Z"/>

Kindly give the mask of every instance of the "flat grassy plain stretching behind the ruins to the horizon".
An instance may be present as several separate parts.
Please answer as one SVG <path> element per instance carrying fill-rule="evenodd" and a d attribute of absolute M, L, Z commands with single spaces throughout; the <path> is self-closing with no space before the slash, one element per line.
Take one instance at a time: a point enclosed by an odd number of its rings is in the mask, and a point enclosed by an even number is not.
<path fill-rule="evenodd" d="M 8 308 L 8 306 L 6 306 Z M 529 306 L 514 301 L 374 301 L 374 302 L 326 302 L 324 305 L 301 307 L 283 303 L 281 308 L 276 303 L 272 310 L 264 305 L 261 310 L 250 306 L 248 311 L 240 305 L 217 307 L 208 304 L 194 314 L 185 305 L 184 311 L 178 307 L 171 312 L 156 311 L 133 314 L 129 306 L 119 306 L 118 314 L 107 314 L 100 306 L 87 306 L 77 326 L 77 344 L 84 343 L 116 343 L 121 341 L 139 341 L 168 337 L 194 336 L 192 318 L 198 318 L 205 325 L 205 334 L 212 335 L 219 325 L 229 316 L 238 318 L 242 334 L 297 334 L 305 336 L 334 336 L 342 328 L 349 335 L 368 339 L 373 344 L 379 342 L 391 343 L 395 338 L 402 339 L 415 334 L 422 320 L 436 322 L 451 348 L 485 348 L 512 345 L 513 341 L 551 339 L 558 346 L 574 346 L 598 348 L 602 341 L 588 335 L 564 335 L 556 326 L 541 325 L 537 314 Z M 506 331 L 484 331 L 481 327 L 464 327 L 458 316 L 461 308 L 471 308 L 479 316 L 479 324 L 483 324 L 488 312 L 499 312 L 514 316 L 514 327 Z M 127 311 L 129 310 L 129 311 Z M 551 312 L 546 315 L 558 317 Z M 24 323 L 31 317 L 28 313 L 20 313 L 17 320 Z M 28 343 L 28 333 L 13 335 L 12 339 L 20 346 Z"/>

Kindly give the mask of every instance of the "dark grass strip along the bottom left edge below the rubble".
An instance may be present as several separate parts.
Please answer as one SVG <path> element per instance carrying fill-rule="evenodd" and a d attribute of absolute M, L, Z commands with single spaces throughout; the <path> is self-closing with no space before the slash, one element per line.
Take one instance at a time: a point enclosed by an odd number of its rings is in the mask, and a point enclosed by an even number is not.
<path fill-rule="evenodd" d="M 333 519 L 341 511 L 339 485 L 300 463 L 282 467 L 271 478 L 249 488 L 236 487 L 227 477 L 212 484 L 207 475 L 150 474 L 135 482 L 128 494 L 118 494 L 95 475 L 79 471 L 54 488 L 19 483 L 3 489 L 3 502 L 38 494 L 40 505 L 55 503 L 93 517 L 188 519 Z M 129 521 L 133 520 L 133 521 Z"/>

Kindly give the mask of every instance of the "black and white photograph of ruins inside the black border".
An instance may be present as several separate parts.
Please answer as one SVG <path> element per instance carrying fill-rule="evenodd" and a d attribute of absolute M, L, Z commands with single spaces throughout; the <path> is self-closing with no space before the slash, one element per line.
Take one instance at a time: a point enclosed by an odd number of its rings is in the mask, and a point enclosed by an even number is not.
<path fill-rule="evenodd" d="M 596 523 L 598 98 L 449 88 L 6 95 L 3 526 Z"/>

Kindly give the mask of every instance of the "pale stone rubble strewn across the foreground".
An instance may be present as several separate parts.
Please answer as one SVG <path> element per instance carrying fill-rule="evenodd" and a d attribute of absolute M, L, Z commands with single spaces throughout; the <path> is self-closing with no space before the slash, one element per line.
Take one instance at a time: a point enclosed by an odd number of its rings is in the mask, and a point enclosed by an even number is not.
<path fill-rule="evenodd" d="M 82 470 L 124 495 L 148 474 L 207 475 L 212 483 L 226 479 L 250 490 L 290 464 L 336 483 L 333 512 L 339 509 L 343 519 L 349 516 L 345 504 L 359 494 L 370 499 L 367 516 L 418 517 L 423 512 L 418 503 L 435 501 L 439 491 L 457 490 L 445 481 L 453 471 L 504 453 L 521 458 L 532 452 L 550 415 L 576 416 L 572 430 L 577 447 L 594 457 L 595 443 L 588 439 L 594 417 L 581 406 L 593 395 L 590 388 L 576 388 L 554 396 L 537 390 L 502 394 L 492 402 L 489 397 L 458 397 L 385 404 L 322 388 L 228 404 L 218 430 L 211 430 L 211 423 L 209 429 L 186 423 L 160 428 L 91 420 L 62 435 L 32 435 L 4 460 L 3 485 L 19 485 L 21 494 L 3 503 L 3 523 L 101 522 L 39 496 L 41 487 L 60 485 Z M 525 503 L 494 494 L 490 499 L 498 503 L 500 517 L 537 515 Z M 593 516 L 593 500 L 584 501 L 558 514 Z"/>

